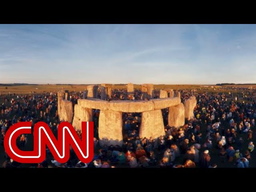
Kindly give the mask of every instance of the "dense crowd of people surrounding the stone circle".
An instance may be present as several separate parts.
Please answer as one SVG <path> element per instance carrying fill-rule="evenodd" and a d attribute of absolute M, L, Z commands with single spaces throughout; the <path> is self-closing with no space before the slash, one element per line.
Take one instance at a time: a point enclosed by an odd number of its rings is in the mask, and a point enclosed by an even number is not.
<path fill-rule="evenodd" d="M 168 168 L 216 168 L 256 166 L 254 160 L 254 128 L 256 118 L 256 91 L 230 89 L 227 91 L 180 90 L 181 100 L 196 96 L 194 118 L 185 125 L 175 128 L 168 126 L 168 108 L 162 110 L 165 135 L 158 138 L 140 138 L 140 113 L 123 113 L 122 146 L 100 146 L 98 138 L 98 118 L 100 110 L 94 114 L 94 159 L 89 164 L 79 161 L 70 149 L 70 160 L 60 164 L 47 150 L 46 160 L 30 167 L 168 167 Z M 123 89 L 112 90 L 111 100 L 141 99 L 141 91 L 135 90 L 129 97 Z M 100 93 L 99 93 L 100 96 Z M 157 94 L 156 94 L 157 97 Z M 73 105 L 82 92 L 70 92 Z M 31 121 L 32 126 L 39 121 L 46 122 L 57 135 L 58 98 L 57 92 L 32 93 L 28 95 L 0 95 L 0 145 L 8 128 L 17 122 Z M 81 136 L 81 133 L 78 132 Z M 28 148 L 30 134 L 23 134 L 17 141 L 19 148 Z M 0 150 L 4 148 L 0 147 Z M 2 153 L 3 154 L 3 153 Z M 1 160 L 0 160 L 1 161 Z M 5 153 L 3 167 L 22 167 Z"/>

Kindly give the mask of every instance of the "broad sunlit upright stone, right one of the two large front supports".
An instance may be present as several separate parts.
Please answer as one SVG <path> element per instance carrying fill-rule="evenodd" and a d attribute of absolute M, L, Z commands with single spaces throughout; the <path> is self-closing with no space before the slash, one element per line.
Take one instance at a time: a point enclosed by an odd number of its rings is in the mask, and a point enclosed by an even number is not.
<path fill-rule="evenodd" d="M 164 136 L 164 120 L 161 110 L 142 112 L 140 138 L 158 138 Z"/>

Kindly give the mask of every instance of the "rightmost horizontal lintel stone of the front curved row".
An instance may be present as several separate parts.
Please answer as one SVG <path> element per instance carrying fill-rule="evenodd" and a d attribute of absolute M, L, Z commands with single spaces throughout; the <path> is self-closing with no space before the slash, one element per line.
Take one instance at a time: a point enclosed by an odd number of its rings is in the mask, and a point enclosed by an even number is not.
<path fill-rule="evenodd" d="M 154 103 L 155 110 L 176 106 L 176 105 L 180 104 L 180 102 L 181 102 L 179 97 L 164 98 L 164 99 L 152 99 L 151 101 Z"/>

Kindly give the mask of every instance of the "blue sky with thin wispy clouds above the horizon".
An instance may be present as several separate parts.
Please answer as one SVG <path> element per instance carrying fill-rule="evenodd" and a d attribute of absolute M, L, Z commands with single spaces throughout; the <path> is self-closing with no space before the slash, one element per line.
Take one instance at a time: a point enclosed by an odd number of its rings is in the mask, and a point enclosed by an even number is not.
<path fill-rule="evenodd" d="M 255 53 L 255 24 L 0 24 L 0 83 L 256 83 Z"/>

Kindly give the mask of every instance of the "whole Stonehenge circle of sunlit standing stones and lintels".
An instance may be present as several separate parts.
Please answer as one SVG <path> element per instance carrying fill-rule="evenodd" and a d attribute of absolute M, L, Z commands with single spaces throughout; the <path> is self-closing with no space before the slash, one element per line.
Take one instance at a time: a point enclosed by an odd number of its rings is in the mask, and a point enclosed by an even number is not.
<path fill-rule="evenodd" d="M 133 84 L 128 87 L 132 92 Z M 164 136 L 162 109 L 169 109 L 168 125 L 171 127 L 183 126 L 185 118 L 190 120 L 194 117 L 194 107 L 196 106 L 194 96 L 182 103 L 180 92 L 175 92 L 174 97 L 172 89 L 164 89 L 160 90 L 160 98 L 152 99 L 153 84 L 142 84 L 142 95 L 145 100 L 106 100 L 107 94 L 110 94 L 110 90 L 112 91 L 110 84 L 102 84 L 101 99 L 95 98 L 94 90 L 98 90 L 98 86 L 87 86 L 87 90 L 87 98 L 86 92 L 83 94 L 83 99 L 78 99 L 74 106 L 74 112 L 72 102 L 63 99 L 63 91 L 58 92 L 58 114 L 61 121 L 68 121 L 76 130 L 81 130 L 81 122 L 93 121 L 92 109 L 100 110 L 98 136 L 101 146 L 105 144 L 108 146 L 122 145 L 122 113 L 142 113 L 140 138 Z"/>

